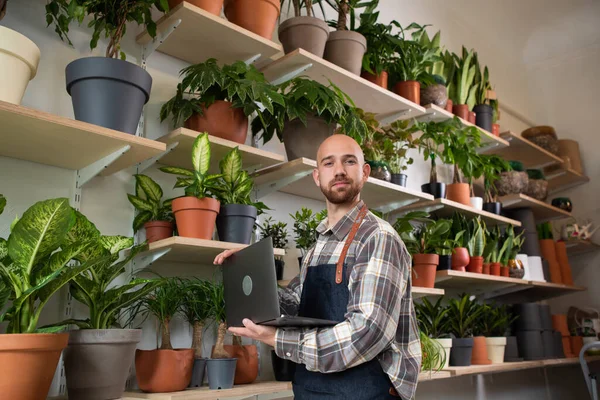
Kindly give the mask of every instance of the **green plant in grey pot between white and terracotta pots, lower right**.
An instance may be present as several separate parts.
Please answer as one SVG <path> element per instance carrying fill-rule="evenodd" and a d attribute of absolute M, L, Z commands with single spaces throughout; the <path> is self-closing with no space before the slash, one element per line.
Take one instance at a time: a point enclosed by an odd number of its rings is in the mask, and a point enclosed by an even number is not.
<path fill-rule="evenodd" d="M 454 335 L 450 351 L 450 365 L 467 367 L 471 365 L 473 352 L 473 328 L 482 309 L 468 294 L 450 299 L 448 303 L 448 331 Z"/>

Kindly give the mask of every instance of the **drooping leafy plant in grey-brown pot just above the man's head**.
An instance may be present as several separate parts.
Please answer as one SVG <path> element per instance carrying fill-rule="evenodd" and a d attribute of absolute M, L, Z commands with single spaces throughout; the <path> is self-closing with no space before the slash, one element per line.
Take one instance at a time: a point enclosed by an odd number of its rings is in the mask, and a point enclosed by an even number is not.
<path fill-rule="evenodd" d="M 324 86 L 307 78 L 294 78 L 278 87 L 285 105 L 273 103 L 273 112 L 252 121 L 252 134 L 269 142 L 277 135 L 288 160 L 316 158 L 319 145 L 335 131 L 337 124 L 360 142 L 366 125 L 352 99 L 332 83 Z"/>

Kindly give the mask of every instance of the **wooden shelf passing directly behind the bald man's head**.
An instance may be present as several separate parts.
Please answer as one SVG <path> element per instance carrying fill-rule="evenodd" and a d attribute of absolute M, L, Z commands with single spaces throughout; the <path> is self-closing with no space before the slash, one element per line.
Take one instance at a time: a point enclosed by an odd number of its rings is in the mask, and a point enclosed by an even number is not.
<path fill-rule="evenodd" d="M 299 158 L 259 170 L 254 175 L 254 183 L 259 198 L 272 190 L 293 194 L 309 199 L 324 201 L 311 176 L 316 163 L 307 158 Z M 394 210 L 419 200 L 431 200 L 432 196 L 405 187 L 394 185 L 380 179 L 369 178 L 364 185 L 362 199 L 372 209 L 384 212 Z"/>

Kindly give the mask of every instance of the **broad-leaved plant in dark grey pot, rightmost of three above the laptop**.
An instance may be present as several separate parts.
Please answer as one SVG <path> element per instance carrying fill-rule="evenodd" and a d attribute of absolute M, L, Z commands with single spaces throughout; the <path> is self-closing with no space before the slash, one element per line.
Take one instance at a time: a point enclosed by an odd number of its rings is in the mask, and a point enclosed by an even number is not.
<path fill-rule="evenodd" d="M 219 240 L 250 244 L 256 216 L 268 207 L 250 200 L 254 181 L 242 171 L 242 155 L 237 147 L 223 157 L 219 167 L 221 175 L 215 188 L 221 202 L 217 216 Z"/>

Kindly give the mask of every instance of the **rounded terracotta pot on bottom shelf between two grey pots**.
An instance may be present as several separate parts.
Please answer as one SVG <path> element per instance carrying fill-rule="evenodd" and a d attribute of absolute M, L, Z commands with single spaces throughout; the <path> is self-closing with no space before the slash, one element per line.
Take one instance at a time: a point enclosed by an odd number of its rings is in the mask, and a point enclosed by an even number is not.
<path fill-rule="evenodd" d="M 135 375 L 144 392 L 179 392 L 190 384 L 193 368 L 194 349 L 135 352 Z"/>

